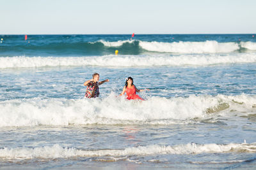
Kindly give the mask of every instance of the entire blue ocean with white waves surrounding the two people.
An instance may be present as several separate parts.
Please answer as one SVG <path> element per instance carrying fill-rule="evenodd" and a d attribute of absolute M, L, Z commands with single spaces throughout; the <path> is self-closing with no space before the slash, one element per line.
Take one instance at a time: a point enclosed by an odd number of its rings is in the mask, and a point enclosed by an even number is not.
<path fill-rule="evenodd" d="M 0 38 L 0 169 L 256 167 L 256 35 Z"/>

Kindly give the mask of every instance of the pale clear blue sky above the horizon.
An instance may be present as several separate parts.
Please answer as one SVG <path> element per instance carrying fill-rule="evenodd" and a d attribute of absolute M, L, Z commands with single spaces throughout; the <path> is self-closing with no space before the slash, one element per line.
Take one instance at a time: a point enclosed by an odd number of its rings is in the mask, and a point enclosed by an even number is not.
<path fill-rule="evenodd" d="M 255 34 L 255 0 L 0 0 L 0 34 Z"/>

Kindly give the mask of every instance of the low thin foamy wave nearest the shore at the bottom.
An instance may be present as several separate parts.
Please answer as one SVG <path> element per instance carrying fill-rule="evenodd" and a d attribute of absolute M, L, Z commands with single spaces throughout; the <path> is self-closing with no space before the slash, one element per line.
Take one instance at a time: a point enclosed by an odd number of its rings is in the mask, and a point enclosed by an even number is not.
<path fill-rule="evenodd" d="M 161 146 L 149 145 L 124 149 L 81 150 L 63 148 L 56 144 L 38 148 L 0 148 L 2 159 L 56 159 L 70 157 L 129 157 L 131 155 L 199 154 L 199 153 L 256 153 L 256 143 L 195 144 Z M 123 158 L 124 159 L 124 158 Z"/>

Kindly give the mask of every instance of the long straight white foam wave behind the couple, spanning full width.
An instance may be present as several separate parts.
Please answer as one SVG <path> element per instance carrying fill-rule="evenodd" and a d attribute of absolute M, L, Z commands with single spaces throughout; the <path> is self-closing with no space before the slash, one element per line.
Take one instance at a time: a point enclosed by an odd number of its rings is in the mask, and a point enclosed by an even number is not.
<path fill-rule="evenodd" d="M 255 53 L 236 55 L 104 55 L 100 57 L 0 57 L 0 69 L 19 67 L 101 66 L 209 66 L 255 63 Z"/>

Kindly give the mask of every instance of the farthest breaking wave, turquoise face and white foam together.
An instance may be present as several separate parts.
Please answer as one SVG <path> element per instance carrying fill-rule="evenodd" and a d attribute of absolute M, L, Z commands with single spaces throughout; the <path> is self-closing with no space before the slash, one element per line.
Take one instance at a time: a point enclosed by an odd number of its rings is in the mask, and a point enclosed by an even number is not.
<path fill-rule="evenodd" d="M 15 45 L 1 46 L 1 56 L 92 56 L 111 55 L 118 50 L 122 55 L 140 55 L 143 53 L 230 53 L 255 51 L 256 43 L 247 42 L 226 42 L 218 41 L 67 41 L 67 42 L 38 42 L 18 43 Z M 245 50 L 244 50 L 245 49 Z"/>

